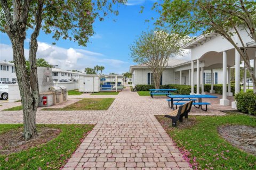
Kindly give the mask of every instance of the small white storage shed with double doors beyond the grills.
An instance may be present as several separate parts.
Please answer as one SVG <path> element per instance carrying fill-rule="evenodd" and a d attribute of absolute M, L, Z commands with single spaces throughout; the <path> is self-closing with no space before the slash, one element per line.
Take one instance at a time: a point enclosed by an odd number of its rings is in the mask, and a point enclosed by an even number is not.
<path fill-rule="evenodd" d="M 80 92 L 99 92 L 100 91 L 100 76 L 82 74 L 78 78 Z"/>

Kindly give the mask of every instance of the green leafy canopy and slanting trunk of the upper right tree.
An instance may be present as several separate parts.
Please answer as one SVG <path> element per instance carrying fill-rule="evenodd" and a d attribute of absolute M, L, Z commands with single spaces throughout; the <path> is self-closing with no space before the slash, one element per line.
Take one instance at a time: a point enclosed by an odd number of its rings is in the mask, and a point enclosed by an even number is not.
<path fill-rule="evenodd" d="M 173 0 L 156 3 L 161 16 L 155 22 L 161 27 L 168 27 L 181 36 L 198 36 L 207 33 L 219 33 L 227 39 L 243 58 L 253 79 L 256 93 L 256 77 L 250 65 L 249 55 L 243 38 L 256 41 L 256 1 L 248 0 Z M 242 35 L 245 30 L 247 35 Z M 238 43 L 234 39 L 238 38 Z"/>

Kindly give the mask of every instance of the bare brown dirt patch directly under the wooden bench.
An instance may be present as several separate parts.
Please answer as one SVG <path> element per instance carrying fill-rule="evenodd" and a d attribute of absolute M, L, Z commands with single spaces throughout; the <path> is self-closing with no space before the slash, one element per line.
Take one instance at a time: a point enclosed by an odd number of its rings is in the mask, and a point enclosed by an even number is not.
<path fill-rule="evenodd" d="M 172 120 L 171 118 L 164 117 L 163 115 L 155 116 L 158 122 L 163 126 L 164 129 L 172 130 L 174 128 L 178 129 L 187 129 L 197 123 L 195 117 L 183 117 L 183 122 L 177 121 L 177 127 L 172 127 Z"/>

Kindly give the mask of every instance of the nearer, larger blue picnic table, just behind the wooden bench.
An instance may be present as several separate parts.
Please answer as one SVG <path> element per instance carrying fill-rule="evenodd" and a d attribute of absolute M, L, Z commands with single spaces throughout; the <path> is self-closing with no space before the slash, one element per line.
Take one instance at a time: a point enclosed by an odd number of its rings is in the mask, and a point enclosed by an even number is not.
<path fill-rule="evenodd" d="M 182 101 L 185 101 L 184 99 L 188 98 L 190 100 L 193 100 L 193 105 L 196 108 L 201 108 L 203 111 L 207 111 L 207 105 L 210 105 L 210 103 L 206 103 L 206 102 L 202 102 L 202 98 L 218 98 L 217 96 L 213 96 L 213 95 L 168 95 L 167 97 L 169 97 L 171 99 L 171 108 L 174 109 L 174 105 L 183 105 L 184 103 L 182 103 Z M 177 101 L 176 103 L 174 103 L 174 98 L 179 98 L 179 99 L 175 99 L 175 101 Z M 198 98 L 198 102 L 196 102 L 196 100 L 194 98 Z M 181 102 L 180 102 L 181 101 Z M 198 106 L 196 106 L 198 105 Z M 206 106 L 206 109 L 202 108 L 202 105 Z"/>

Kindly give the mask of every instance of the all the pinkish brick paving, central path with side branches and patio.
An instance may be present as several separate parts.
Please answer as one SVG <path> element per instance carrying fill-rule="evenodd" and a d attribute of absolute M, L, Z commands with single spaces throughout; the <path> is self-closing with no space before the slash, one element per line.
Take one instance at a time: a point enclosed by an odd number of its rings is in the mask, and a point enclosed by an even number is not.
<path fill-rule="evenodd" d="M 193 107 L 189 115 L 225 115 L 220 110 L 231 107 L 220 106 L 221 96 L 217 96 L 218 99 L 204 99 L 211 103 L 207 112 Z M 171 111 L 166 97 L 141 97 L 130 88 L 117 96 L 79 96 L 105 97 L 116 98 L 108 111 L 38 110 L 36 120 L 40 124 L 95 124 L 63 169 L 191 169 L 154 117 Z M 77 96 L 70 98 L 74 99 L 68 103 L 79 100 L 75 99 Z M 20 103 L 1 104 L 0 124 L 23 123 L 22 111 L 2 111 Z"/>

